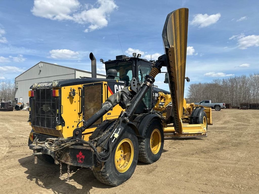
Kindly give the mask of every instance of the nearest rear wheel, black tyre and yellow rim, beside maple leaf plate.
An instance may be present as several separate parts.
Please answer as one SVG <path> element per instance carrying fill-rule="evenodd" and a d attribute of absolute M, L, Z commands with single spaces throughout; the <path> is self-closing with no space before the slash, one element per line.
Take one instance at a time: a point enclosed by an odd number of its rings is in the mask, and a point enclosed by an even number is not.
<path fill-rule="evenodd" d="M 98 181 L 104 184 L 118 186 L 127 181 L 134 173 L 138 154 L 138 138 L 134 131 L 127 126 L 119 136 L 103 169 L 93 169 L 93 174 Z"/>

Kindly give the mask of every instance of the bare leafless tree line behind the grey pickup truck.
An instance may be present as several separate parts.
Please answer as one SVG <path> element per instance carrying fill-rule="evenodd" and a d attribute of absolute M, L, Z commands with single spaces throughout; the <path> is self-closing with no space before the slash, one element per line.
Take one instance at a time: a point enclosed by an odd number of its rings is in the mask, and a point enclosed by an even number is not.
<path fill-rule="evenodd" d="M 249 76 L 234 76 L 224 79 L 213 79 L 210 83 L 191 84 L 187 97 L 190 102 L 212 100 L 212 102 L 259 103 L 259 73 Z"/>

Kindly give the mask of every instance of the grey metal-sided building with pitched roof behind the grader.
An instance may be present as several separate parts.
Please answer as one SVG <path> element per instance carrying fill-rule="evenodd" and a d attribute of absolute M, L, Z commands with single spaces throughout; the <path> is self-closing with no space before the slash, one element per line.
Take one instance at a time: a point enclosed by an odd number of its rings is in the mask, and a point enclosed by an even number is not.
<path fill-rule="evenodd" d="M 91 72 L 74 69 L 57 64 L 39 62 L 27 71 L 15 78 L 15 98 L 18 102 L 29 101 L 28 91 L 34 83 L 48 82 L 53 80 L 74 79 L 81 77 L 92 77 Z M 97 74 L 97 78 L 106 78 L 106 75 Z"/>

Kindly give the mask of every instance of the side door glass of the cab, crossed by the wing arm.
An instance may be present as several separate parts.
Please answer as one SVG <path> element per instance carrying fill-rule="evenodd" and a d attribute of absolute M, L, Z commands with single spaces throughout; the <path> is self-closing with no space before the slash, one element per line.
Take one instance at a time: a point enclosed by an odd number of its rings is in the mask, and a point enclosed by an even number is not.
<path fill-rule="evenodd" d="M 140 65 L 138 68 L 138 77 L 139 80 L 141 82 L 145 81 L 145 76 L 148 75 L 151 71 L 151 67 L 150 66 L 144 66 L 144 65 Z M 147 108 L 151 108 L 151 92 L 152 92 L 152 88 L 150 87 L 147 91 L 147 93 L 145 94 L 145 96 L 143 97 L 143 101 L 145 103 L 145 105 L 147 106 Z"/>

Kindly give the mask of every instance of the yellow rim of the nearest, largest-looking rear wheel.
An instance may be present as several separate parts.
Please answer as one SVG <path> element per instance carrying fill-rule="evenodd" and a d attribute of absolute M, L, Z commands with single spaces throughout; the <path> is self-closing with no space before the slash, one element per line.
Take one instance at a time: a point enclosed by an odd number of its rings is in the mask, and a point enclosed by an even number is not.
<path fill-rule="evenodd" d="M 126 172 L 133 161 L 134 148 L 130 139 L 123 139 L 117 146 L 114 156 L 116 169 L 120 173 Z"/>

